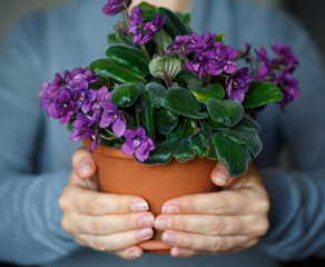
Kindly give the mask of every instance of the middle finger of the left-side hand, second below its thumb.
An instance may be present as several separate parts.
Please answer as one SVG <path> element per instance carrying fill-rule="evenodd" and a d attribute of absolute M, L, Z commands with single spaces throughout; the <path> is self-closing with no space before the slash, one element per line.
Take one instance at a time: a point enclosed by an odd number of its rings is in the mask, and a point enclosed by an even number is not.
<path fill-rule="evenodd" d="M 120 231 L 154 227 L 155 217 L 150 212 L 86 216 L 73 214 L 70 218 L 73 235 L 110 235 Z"/>

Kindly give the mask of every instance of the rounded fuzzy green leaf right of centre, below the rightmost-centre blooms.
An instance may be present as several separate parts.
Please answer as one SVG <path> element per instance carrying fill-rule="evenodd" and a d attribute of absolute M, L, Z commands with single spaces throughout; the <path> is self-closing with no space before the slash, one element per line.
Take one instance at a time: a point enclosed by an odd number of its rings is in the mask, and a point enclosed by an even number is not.
<path fill-rule="evenodd" d="M 244 116 L 244 108 L 233 100 L 209 99 L 207 101 L 208 113 L 217 122 L 232 127 L 237 125 Z"/>

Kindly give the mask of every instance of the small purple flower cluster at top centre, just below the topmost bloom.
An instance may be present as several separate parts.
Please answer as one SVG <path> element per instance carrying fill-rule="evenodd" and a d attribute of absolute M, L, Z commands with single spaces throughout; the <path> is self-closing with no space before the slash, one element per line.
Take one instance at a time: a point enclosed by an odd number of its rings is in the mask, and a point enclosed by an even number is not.
<path fill-rule="evenodd" d="M 134 44 L 145 44 L 150 41 L 160 31 L 166 20 L 166 17 L 161 18 L 160 13 L 157 13 L 152 21 L 145 23 L 140 8 L 132 8 L 128 31 L 134 34 Z"/>

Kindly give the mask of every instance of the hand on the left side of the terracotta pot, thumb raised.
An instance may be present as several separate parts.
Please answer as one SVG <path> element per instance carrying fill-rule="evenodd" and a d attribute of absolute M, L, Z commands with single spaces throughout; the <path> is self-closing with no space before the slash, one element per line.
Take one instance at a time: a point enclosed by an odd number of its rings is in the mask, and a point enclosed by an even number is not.
<path fill-rule="evenodd" d="M 145 199 L 98 191 L 96 164 L 86 149 L 72 156 L 72 172 L 59 199 L 61 225 L 73 239 L 125 259 L 142 257 L 137 244 L 152 237 L 155 217 Z"/>

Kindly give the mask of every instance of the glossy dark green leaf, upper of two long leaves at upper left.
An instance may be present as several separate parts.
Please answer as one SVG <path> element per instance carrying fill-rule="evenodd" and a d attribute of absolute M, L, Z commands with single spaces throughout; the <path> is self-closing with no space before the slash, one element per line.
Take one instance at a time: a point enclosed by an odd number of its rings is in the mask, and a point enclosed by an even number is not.
<path fill-rule="evenodd" d="M 145 77 L 149 75 L 149 59 L 142 50 L 127 44 L 112 44 L 106 50 L 106 56 L 115 60 L 118 65 L 129 68 L 138 75 Z"/>

